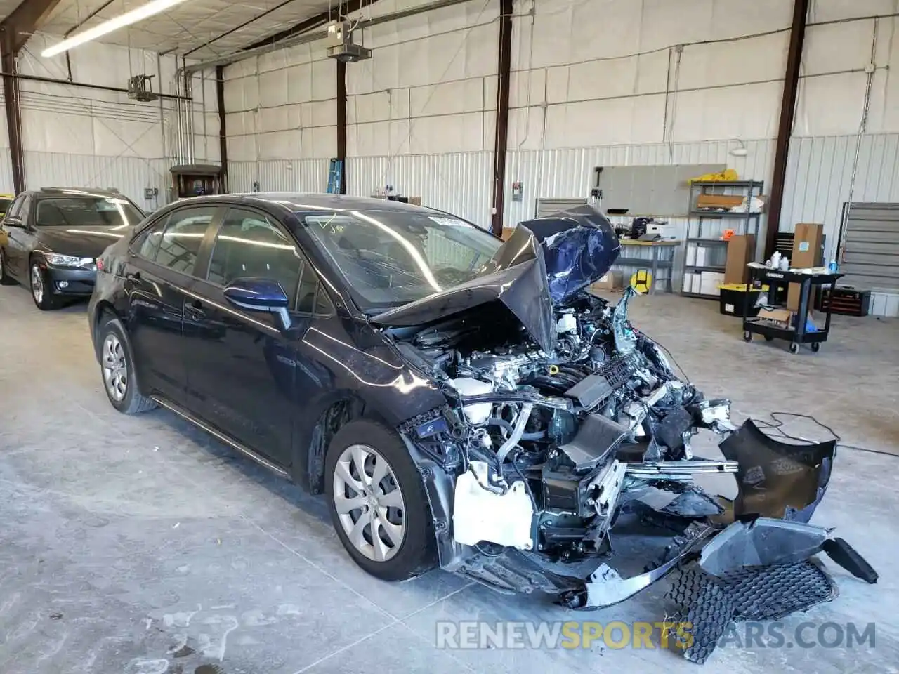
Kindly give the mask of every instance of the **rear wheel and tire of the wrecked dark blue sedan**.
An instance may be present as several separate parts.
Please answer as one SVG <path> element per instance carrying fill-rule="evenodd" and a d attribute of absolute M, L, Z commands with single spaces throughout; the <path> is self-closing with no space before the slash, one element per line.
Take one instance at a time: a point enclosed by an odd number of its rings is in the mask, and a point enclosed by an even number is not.
<path fill-rule="evenodd" d="M 131 355 L 131 342 L 118 318 L 110 314 L 102 316 L 95 346 L 100 361 L 103 390 L 112 406 L 123 414 L 138 414 L 154 409 L 156 403 L 140 393 L 134 358 Z M 123 375 L 123 379 L 116 377 L 117 371 Z"/>

